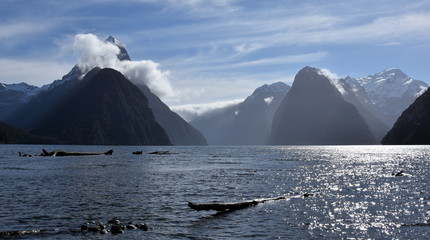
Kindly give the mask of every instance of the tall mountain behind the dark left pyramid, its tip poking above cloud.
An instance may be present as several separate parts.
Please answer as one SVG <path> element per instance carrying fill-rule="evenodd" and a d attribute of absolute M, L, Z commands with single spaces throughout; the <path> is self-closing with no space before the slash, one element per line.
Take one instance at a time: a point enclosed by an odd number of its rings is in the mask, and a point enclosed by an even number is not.
<path fill-rule="evenodd" d="M 109 36 L 105 42 L 114 44 L 120 49 L 120 53 L 117 55 L 118 59 L 130 61 L 127 50 L 117 39 Z M 45 87 L 44 91 L 40 91 L 39 94 L 24 104 L 19 111 L 7 118 L 6 121 L 20 128 L 34 129 L 43 123 L 47 116 L 53 115 L 53 112 L 60 108 L 62 102 L 67 101 L 88 70 L 80 69 L 78 65 L 75 65 L 61 80 L 56 80 Z M 146 95 L 157 122 L 165 129 L 172 144 L 207 145 L 206 139 L 200 132 L 171 111 L 146 85 L 138 87 Z"/>

